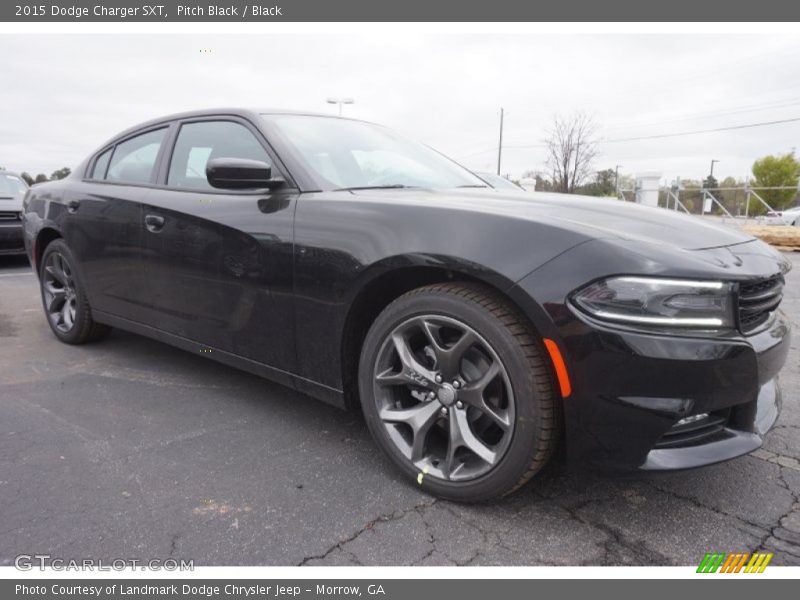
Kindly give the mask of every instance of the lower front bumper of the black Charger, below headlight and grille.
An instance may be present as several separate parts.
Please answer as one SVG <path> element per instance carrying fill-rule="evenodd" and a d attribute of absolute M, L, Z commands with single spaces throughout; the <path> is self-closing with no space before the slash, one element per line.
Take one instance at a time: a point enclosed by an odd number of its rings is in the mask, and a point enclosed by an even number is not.
<path fill-rule="evenodd" d="M 699 467 L 761 446 L 777 419 L 790 329 L 775 314 L 749 337 L 679 338 L 581 322 L 567 339 L 575 393 L 564 400 L 573 465 Z M 687 417 L 707 418 L 681 424 Z"/>

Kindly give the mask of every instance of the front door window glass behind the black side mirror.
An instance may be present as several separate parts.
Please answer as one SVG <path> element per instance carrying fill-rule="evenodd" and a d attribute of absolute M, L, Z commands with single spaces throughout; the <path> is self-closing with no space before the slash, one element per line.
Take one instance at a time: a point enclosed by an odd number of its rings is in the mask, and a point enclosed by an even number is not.
<path fill-rule="evenodd" d="M 252 132 L 233 121 L 203 121 L 181 126 L 167 185 L 193 190 L 210 190 L 206 164 L 213 158 L 248 158 L 272 164 L 269 154 Z"/>

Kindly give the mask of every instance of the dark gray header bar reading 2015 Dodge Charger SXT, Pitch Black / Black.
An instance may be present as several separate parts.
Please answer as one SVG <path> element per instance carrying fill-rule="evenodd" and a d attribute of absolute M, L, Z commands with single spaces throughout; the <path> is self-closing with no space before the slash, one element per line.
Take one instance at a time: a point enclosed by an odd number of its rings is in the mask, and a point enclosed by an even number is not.
<path fill-rule="evenodd" d="M 790 0 L 59 0 L 3 2 L 5 22 L 786 22 Z"/>

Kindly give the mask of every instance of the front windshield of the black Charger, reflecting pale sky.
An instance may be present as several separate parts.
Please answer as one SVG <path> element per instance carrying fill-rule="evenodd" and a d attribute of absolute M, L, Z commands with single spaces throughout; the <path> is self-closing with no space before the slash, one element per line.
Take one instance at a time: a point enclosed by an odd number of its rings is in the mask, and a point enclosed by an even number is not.
<path fill-rule="evenodd" d="M 321 189 L 486 187 L 435 150 L 362 121 L 270 115 Z"/>

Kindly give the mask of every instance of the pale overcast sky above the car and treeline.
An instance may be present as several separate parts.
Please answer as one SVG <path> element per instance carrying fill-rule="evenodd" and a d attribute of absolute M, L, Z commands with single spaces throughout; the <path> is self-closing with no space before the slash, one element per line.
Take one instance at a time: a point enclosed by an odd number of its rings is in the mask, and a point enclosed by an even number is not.
<path fill-rule="evenodd" d="M 201 52 L 201 49 L 207 50 Z M 130 125 L 214 106 L 367 119 L 503 173 L 545 170 L 554 113 L 594 115 L 596 168 L 745 177 L 800 149 L 800 121 L 613 141 L 800 117 L 800 40 L 742 35 L 2 35 L 0 166 L 74 166 Z"/>

